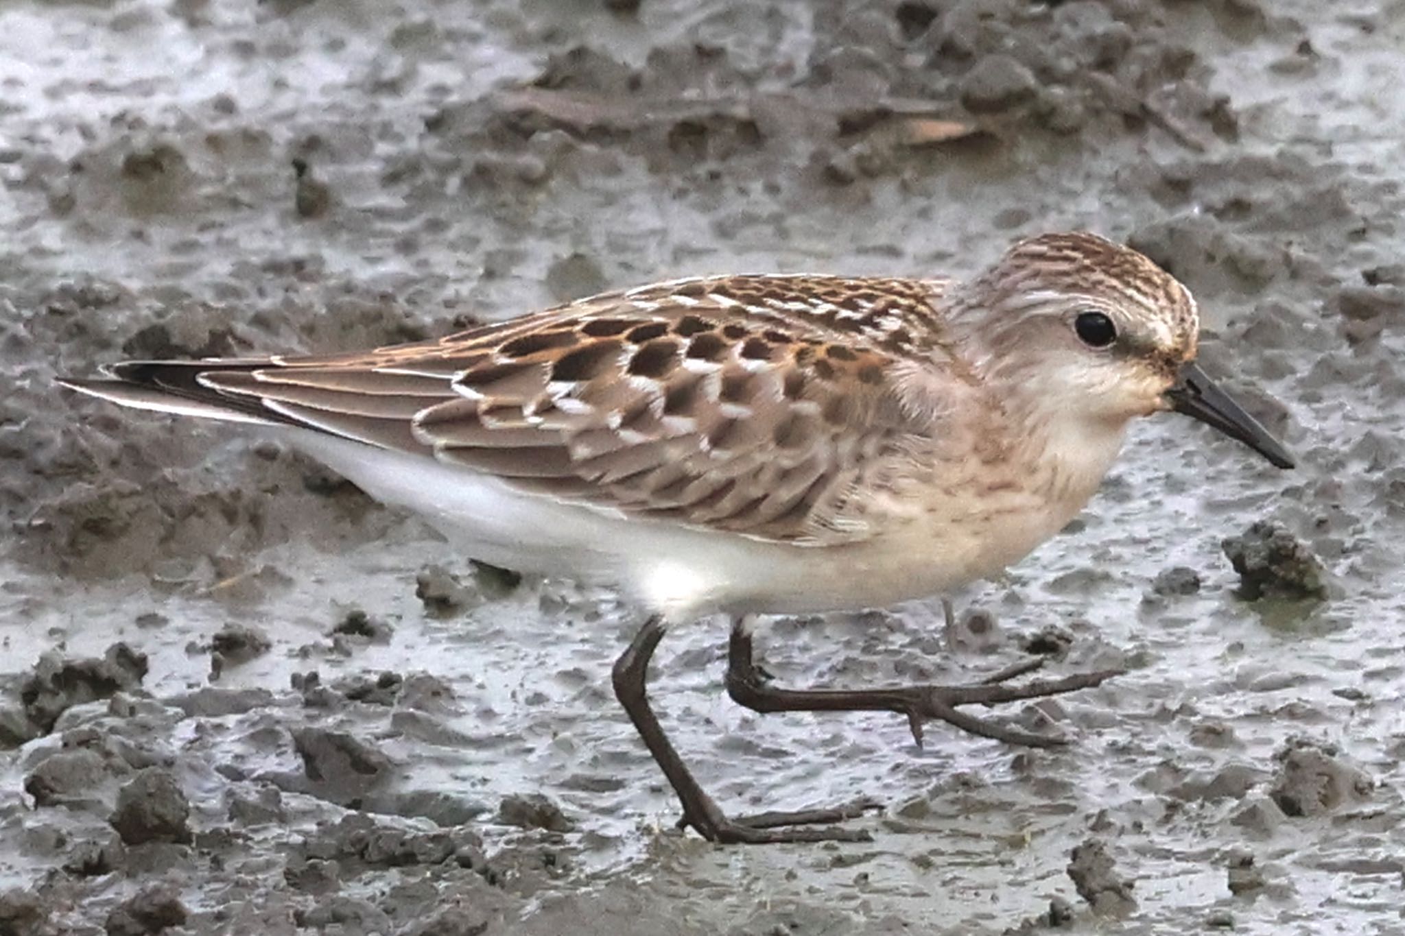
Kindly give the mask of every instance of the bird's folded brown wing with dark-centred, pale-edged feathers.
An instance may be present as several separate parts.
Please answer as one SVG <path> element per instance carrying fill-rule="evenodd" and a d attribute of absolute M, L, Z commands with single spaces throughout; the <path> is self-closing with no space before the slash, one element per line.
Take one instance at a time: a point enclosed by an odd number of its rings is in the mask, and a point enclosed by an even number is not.
<path fill-rule="evenodd" d="M 125 362 L 115 380 L 70 385 L 423 452 L 601 509 L 777 542 L 863 539 L 853 491 L 916 431 L 892 387 L 906 348 L 884 348 L 877 319 L 863 334 L 794 307 L 738 314 L 697 282 L 367 354 Z"/>

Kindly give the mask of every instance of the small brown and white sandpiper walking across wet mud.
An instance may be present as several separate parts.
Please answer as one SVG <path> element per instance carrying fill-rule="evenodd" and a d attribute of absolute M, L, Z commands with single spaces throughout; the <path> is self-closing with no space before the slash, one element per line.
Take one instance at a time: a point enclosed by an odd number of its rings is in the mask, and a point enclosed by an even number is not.
<path fill-rule="evenodd" d="M 864 804 L 729 818 L 649 704 L 667 626 L 735 623 L 726 686 L 757 711 L 884 710 L 1016 744 L 958 709 L 1093 686 L 795 690 L 752 661 L 754 615 L 882 608 L 998 573 L 1093 495 L 1134 417 L 1208 422 L 1293 456 L 1194 363 L 1190 292 L 1102 237 L 1014 244 L 967 282 L 722 275 L 592 296 L 364 354 L 128 361 L 69 387 L 246 422 L 469 557 L 618 585 L 648 613 L 614 689 L 718 842 L 863 839 Z M 1021 668 L 1027 671 L 1027 668 Z"/>

